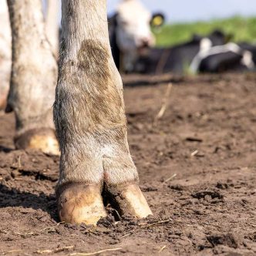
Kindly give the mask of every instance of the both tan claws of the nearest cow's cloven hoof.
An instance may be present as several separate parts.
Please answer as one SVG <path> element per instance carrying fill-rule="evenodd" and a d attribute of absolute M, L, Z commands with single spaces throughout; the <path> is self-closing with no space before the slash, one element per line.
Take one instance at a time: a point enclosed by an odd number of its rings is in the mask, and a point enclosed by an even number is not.
<path fill-rule="evenodd" d="M 107 197 L 120 214 L 142 218 L 152 214 L 147 200 L 137 184 L 119 184 L 107 188 Z M 106 211 L 99 185 L 67 184 L 57 191 L 61 221 L 71 224 L 96 225 Z"/>

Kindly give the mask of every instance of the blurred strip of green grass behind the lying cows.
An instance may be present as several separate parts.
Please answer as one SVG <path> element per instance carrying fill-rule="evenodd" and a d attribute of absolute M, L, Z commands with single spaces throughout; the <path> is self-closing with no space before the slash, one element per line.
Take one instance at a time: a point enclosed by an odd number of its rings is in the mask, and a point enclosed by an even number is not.
<path fill-rule="evenodd" d="M 210 22 L 164 25 L 160 32 L 155 32 L 157 46 L 176 45 L 189 40 L 193 33 L 207 35 L 214 29 L 221 29 L 226 33 L 233 34 L 233 42 L 256 42 L 256 17 L 234 16 L 229 19 L 217 19 Z"/>

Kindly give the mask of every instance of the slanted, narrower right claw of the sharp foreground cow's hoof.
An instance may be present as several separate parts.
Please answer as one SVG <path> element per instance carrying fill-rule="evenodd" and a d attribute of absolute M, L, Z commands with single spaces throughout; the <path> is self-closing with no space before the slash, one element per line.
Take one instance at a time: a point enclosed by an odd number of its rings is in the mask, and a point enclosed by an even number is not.
<path fill-rule="evenodd" d="M 108 193 L 120 214 L 130 214 L 138 218 L 152 215 L 147 200 L 137 184 L 119 184 L 108 187 Z"/>

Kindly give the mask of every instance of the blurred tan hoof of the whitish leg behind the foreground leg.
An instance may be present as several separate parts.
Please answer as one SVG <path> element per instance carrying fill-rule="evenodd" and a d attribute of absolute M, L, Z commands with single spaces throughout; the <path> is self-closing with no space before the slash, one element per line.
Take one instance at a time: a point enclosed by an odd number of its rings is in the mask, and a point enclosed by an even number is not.
<path fill-rule="evenodd" d="M 49 153 L 59 156 L 59 143 L 52 129 L 29 130 L 15 138 L 16 149 L 35 149 L 42 150 L 43 153 Z"/>

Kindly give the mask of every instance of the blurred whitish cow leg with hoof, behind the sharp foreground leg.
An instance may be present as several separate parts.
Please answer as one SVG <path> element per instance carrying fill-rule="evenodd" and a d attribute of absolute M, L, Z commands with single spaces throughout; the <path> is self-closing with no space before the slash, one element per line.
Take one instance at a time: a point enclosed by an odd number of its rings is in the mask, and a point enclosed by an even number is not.
<path fill-rule="evenodd" d="M 40 0 L 8 0 L 12 26 L 12 76 L 6 111 L 15 112 L 16 148 L 59 153 L 52 105 L 57 64 L 45 38 Z"/>

